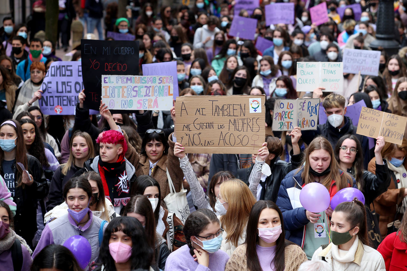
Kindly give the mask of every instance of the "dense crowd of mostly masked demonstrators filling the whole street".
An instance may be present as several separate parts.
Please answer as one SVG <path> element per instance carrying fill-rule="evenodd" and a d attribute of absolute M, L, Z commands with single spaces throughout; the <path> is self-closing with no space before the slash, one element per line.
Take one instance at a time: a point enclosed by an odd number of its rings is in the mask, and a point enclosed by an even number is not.
<path fill-rule="evenodd" d="M 226 0 L 190 6 L 130 0 L 126 17 L 118 17 L 115 2 L 60 0 L 61 44 L 46 39 L 40 24 L 4 17 L 0 269 L 404 270 L 407 139 L 398 145 L 356 134 L 346 112 L 363 100 L 368 108 L 407 115 L 407 2 L 394 9 L 399 53 L 381 52 L 378 76 L 344 73 L 344 89 L 335 93 L 297 92 L 296 63 L 340 62 L 344 48 L 372 50 L 379 1 L 330 0 L 329 21 L 320 26 L 309 13 L 317 2 L 290 2 L 294 24 L 266 25 L 265 5 L 274 0 L 236 13 L 258 20 L 253 41 L 229 35 L 236 3 Z M 359 21 L 352 8 L 337 13 L 348 4 L 361 6 Z M 45 3 L 36 4 L 33 24 L 45 20 L 40 8 Z M 85 39 L 96 39 L 95 28 L 98 39 L 113 40 L 108 31 L 134 35 L 140 75 L 142 64 L 176 61 L 180 96 L 264 94 L 266 137 L 258 153 L 186 154 L 175 107 L 112 114 L 101 104 L 90 115 L 81 91 L 74 115 L 44 115 L 38 100 L 51 63 L 81 61 L 80 43 L 72 39 L 68 52 L 71 23 L 73 32 L 86 26 Z M 258 50 L 259 37 L 273 46 Z M 272 131 L 281 98 L 319 98 L 327 121 L 316 130 Z M 331 199 L 357 188 L 365 202 L 354 198 L 311 212 L 300 192 L 313 182 Z M 190 215 L 168 208 L 172 187 L 188 191 Z M 63 246 L 75 235 L 90 244 L 86 267 Z"/>

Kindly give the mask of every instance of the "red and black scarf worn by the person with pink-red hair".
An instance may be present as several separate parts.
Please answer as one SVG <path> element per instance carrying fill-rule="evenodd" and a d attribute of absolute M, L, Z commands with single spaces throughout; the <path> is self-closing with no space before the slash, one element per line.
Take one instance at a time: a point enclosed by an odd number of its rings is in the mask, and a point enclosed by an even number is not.
<path fill-rule="evenodd" d="M 99 157 L 99 174 L 102 178 L 105 197 L 113 206 L 126 206 L 130 200 L 130 182 L 127 178 L 126 161 L 123 156 L 119 156 L 116 163 L 103 162 Z"/>

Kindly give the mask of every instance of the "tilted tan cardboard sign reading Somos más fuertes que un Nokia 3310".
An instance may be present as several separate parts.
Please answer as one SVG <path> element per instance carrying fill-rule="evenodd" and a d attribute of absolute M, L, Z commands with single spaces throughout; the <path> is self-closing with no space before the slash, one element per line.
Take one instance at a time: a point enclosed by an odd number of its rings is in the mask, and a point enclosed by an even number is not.
<path fill-rule="evenodd" d="M 357 134 L 366 137 L 384 137 L 384 140 L 400 145 L 403 141 L 407 117 L 362 107 Z"/>

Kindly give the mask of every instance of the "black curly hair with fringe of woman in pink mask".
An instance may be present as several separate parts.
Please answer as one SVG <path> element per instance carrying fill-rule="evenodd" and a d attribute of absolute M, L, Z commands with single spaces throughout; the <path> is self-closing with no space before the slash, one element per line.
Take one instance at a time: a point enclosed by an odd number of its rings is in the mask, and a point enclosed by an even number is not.
<path fill-rule="evenodd" d="M 103 263 L 105 271 L 116 271 L 114 260 L 109 252 L 109 240 L 110 235 L 118 231 L 122 231 L 124 234 L 130 236 L 133 242 L 130 270 L 137 268 L 149 270 L 153 260 L 154 250 L 146 239 L 143 226 L 134 217 L 116 217 L 107 225 L 99 250 L 99 260 Z"/>

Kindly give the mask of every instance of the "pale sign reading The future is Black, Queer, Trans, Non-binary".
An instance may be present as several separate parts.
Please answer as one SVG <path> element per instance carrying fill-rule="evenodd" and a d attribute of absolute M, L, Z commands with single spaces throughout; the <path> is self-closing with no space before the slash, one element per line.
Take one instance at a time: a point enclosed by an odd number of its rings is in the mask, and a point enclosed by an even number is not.
<path fill-rule="evenodd" d="M 297 91 L 343 91 L 343 73 L 342 62 L 297 62 Z"/>

